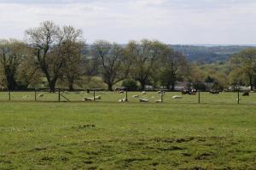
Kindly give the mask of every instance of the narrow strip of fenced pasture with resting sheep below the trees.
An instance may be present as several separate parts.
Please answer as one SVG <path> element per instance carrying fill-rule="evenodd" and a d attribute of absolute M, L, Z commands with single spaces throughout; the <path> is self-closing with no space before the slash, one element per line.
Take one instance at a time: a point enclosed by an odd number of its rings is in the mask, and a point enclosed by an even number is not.
<path fill-rule="evenodd" d="M 256 93 L 243 95 L 242 92 L 197 92 L 182 94 L 181 92 L 109 92 L 102 89 L 56 89 L 50 93 L 49 89 L 28 89 L 26 91 L 1 91 L 0 101 L 27 102 L 144 102 L 144 103 L 185 103 L 185 104 L 255 104 Z"/>

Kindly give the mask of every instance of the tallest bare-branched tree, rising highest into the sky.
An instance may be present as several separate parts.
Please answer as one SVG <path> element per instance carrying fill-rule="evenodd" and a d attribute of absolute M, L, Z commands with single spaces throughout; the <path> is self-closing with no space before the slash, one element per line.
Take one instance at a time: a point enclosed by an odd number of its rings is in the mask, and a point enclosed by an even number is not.
<path fill-rule="evenodd" d="M 39 27 L 26 31 L 26 42 L 36 58 L 36 65 L 43 71 L 51 92 L 55 92 L 55 83 L 62 74 L 62 40 L 60 27 L 51 21 L 44 21 Z"/>

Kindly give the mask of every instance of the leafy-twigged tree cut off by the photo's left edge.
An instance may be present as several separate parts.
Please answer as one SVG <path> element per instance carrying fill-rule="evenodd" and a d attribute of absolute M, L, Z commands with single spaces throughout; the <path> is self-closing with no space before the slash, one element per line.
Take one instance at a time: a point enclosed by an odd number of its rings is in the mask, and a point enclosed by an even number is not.
<path fill-rule="evenodd" d="M 26 57 L 26 45 L 10 39 L 0 42 L 0 64 L 3 69 L 4 81 L 10 90 L 18 88 L 17 71 Z"/>

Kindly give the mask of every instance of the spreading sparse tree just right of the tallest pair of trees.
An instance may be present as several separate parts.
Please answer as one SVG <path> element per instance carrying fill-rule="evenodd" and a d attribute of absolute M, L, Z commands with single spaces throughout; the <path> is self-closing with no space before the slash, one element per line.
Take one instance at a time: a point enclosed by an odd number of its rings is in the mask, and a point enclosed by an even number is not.
<path fill-rule="evenodd" d="M 127 58 L 124 48 L 118 44 L 106 41 L 94 42 L 93 54 L 101 63 L 102 79 L 108 85 L 108 90 L 113 90 L 115 83 L 128 76 L 131 60 Z"/>

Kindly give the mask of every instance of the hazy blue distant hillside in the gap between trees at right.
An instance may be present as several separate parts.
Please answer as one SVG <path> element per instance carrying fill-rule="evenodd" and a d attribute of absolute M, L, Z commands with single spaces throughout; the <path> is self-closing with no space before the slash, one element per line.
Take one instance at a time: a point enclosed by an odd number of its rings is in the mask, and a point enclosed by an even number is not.
<path fill-rule="evenodd" d="M 245 48 L 252 46 L 195 46 L 195 45 L 171 45 L 176 51 L 187 56 L 191 62 L 216 63 L 226 61 L 232 54 L 236 54 Z"/>

